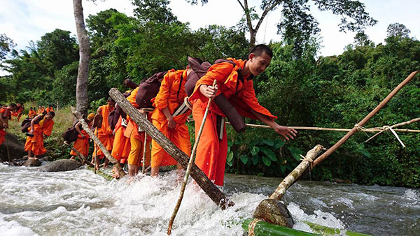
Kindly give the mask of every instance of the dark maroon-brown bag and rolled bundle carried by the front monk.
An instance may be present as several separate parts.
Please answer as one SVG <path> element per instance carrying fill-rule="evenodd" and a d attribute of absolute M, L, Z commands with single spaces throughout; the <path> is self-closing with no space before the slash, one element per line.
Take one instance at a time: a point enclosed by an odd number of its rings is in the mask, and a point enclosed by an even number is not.
<path fill-rule="evenodd" d="M 232 64 L 234 68 L 236 66 L 235 62 L 227 60 L 227 59 L 217 59 L 215 61 L 215 64 L 223 63 L 223 62 L 228 62 Z M 190 66 L 190 68 L 193 69 L 193 71 L 191 71 L 190 74 L 188 75 L 188 80 L 186 82 L 186 92 L 188 96 L 191 96 L 191 94 L 193 94 L 193 91 L 195 89 L 195 84 L 197 83 L 198 80 L 200 80 L 200 78 L 202 78 L 207 73 L 207 71 L 212 66 L 212 64 L 210 64 L 208 61 L 202 62 L 200 59 L 188 57 L 188 66 Z M 242 78 L 240 74 L 238 76 L 238 79 L 244 82 L 244 78 Z M 237 80 L 237 89 L 238 89 L 239 80 Z M 236 96 L 237 96 L 237 91 L 235 94 L 235 99 L 236 99 Z M 230 124 L 232 124 L 232 127 L 235 128 L 235 131 L 237 131 L 238 133 L 245 131 L 246 126 L 245 126 L 244 119 L 242 119 L 241 115 L 239 115 L 239 112 L 237 111 L 235 106 L 232 105 L 232 103 L 230 103 L 230 101 L 228 101 L 228 99 L 226 99 L 225 96 L 223 96 L 223 94 L 219 94 L 218 96 L 213 98 L 213 101 L 214 103 L 216 103 L 218 108 L 221 109 L 223 114 L 225 114 L 225 116 L 228 118 L 228 120 L 230 121 Z"/>

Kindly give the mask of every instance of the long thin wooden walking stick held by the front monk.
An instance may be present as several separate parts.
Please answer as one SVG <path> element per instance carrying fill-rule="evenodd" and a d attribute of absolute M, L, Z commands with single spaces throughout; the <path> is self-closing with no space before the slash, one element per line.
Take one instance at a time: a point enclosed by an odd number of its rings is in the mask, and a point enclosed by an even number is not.
<path fill-rule="evenodd" d="M 213 87 L 216 85 L 216 82 L 217 82 L 217 80 L 214 80 Z M 183 180 L 183 183 L 182 183 L 182 186 L 181 186 L 181 193 L 179 193 L 178 201 L 176 202 L 176 206 L 175 206 L 174 212 L 172 213 L 171 220 L 169 221 L 168 232 L 167 232 L 168 235 L 171 234 L 172 224 L 174 224 L 174 220 L 175 220 L 176 214 L 178 213 L 179 207 L 181 206 L 181 202 L 182 202 L 182 198 L 183 198 L 184 192 L 186 191 L 186 186 L 187 186 L 187 182 L 188 182 L 188 176 L 190 175 L 190 169 L 191 169 L 191 165 L 193 165 L 195 151 L 197 150 L 198 142 L 200 142 L 200 136 L 202 134 L 202 131 L 203 131 L 203 128 L 204 128 L 204 124 L 206 123 L 207 115 L 209 114 L 209 109 L 210 109 L 210 105 L 211 105 L 211 99 L 212 98 L 209 98 L 209 102 L 207 103 L 207 108 L 206 108 L 206 110 L 204 112 L 204 117 L 203 117 L 202 124 L 200 126 L 200 129 L 198 130 L 197 137 L 195 137 L 193 151 L 191 152 L 190 161 L 188 161 L 188 166 L 187 166 L 187 170 L 186 170 L 186 175 L 184 176 L 184 180 Z"/>

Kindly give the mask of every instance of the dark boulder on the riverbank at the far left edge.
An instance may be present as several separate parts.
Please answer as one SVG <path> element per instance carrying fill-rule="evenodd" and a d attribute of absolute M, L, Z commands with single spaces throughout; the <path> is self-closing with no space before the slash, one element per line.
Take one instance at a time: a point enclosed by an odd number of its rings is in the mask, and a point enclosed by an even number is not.
<path fill-rule="evenodd" d="M 0 145 L 0 160 L 9 161 L 17 158 L 22 158 L 26 154 L 22 142 L 19 142 L 18 137 L 13 133 L 6 133 L 6 140 Z"/>

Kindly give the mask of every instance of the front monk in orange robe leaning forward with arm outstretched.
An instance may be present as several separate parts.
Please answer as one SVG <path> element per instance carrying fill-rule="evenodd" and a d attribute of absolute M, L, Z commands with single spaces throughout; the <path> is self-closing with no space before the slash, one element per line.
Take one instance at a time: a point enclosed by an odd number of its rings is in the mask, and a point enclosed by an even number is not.
<path fill-rule="evenodd" d="M 272 56 L 272 50 L 267 45 L 256 45 L 246 61 L 228 58 L 228 60 L 235 62 L 235 67 L 229 62 L 223 62 L 214 64 L 209 68 L 206 75 L 197 81 L 195 90 L 189 98 L 190 102 L 193 103 L 196 135 L 202 123 L 209 98 L 223 94 L 235 106 L 239 115 L 259 119 L 286 140 L 295 137 L 297 131 L 277 124 L 274 121 L 276 117 L 263 108 L 255 97 L 252 79 L 265 71 Z M 217 80 L 217 84 L 213 87 L 214 80 Z M 221 112 L 217 105 L 211 103 L 200 144 L 197 147 L 195 163 L 216 185 L 223 186 L 228 142 L 224 124 L 223 127 L 220 127 L 220 130 L 223 128 L 223 135 L 222 139 L 219 139 L 220 136 L 217 131 L 219 127 L 216 127 L 217 115 L 225 117 L 225 114 Z"/>

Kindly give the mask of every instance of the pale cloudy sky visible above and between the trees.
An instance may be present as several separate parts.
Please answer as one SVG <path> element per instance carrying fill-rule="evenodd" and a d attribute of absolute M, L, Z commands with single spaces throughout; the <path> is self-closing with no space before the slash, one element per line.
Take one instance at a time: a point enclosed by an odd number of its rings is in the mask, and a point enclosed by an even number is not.
<path fill-rule="evenodd" d="M 256 0 L 248 0 L 249 6 L 256 6 Z M 398 22 L 404 24 L 411 37 L 420 39 L 419 0 L 370 0 L 363 1 L 366 11 L 378 23 L 367 27 L 365 34 L 374 43 L 384 43 L 386 28 Z M 76 37 L 76 25 L 71 0 L 0 0 L 0 34 L 6 34 L 17 44 L 16 49 L 25 49 L 31 40 L 40 40 L 45 33 L 54 29 L 71 31 Z M 115 8 L 132 16 L 133 6 L 130 0 L 83 1 L 85 18 L 101 10 Z M 242 17 L 241 8 L 236 0 L 209 0 L 204 6 L 199 3 L 191 6 L 185 0 L 170 0 L 169 8 L 181 22 L 189 22 L 191 29 L 219 24 L 231 27 Z M 339 17 L 330 12 L 319 12 L 311 8 L 311 13 L 319 22 L 321 29 L 321 50 L 318 56 L 342 54 L 344 47 L 353 43 L 355 33 L 339 32 Z M 279 41 L 276 23 L 281 18 L 281 10 L 274 10 L 266 17 L 257 35 L 257 43 Z"/>

